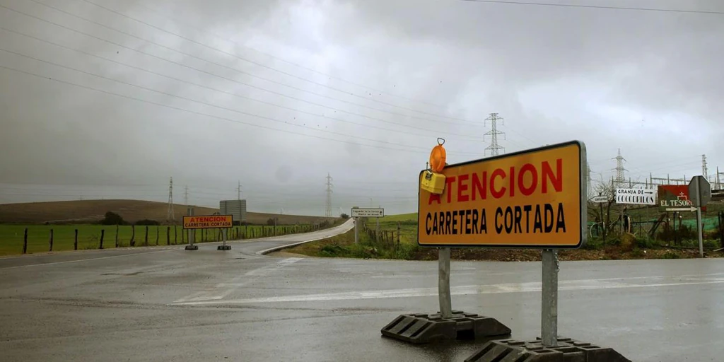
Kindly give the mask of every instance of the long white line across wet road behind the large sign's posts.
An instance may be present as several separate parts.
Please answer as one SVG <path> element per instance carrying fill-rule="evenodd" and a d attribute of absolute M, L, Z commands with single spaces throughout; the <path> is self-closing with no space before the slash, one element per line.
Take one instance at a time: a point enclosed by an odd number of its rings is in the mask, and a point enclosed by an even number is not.
<path fill-rule="evenodd" d="M 631 278 L 641 279 L 641 278 Z M 655 279 L 655 278 L 651 278 Z M 612 282 L 602 279 L 568 280 L 558 283 L 558 290 L 597 290 L 615 288 L 644 288 L 644 287 L 675 287 L 681 285 L 707 285 L 723 284 L 724 278 L 707 278 L 703 281 L 691 279 L 689 282 L 668 282 L 668 283 L 626 283 L 626 279 L 616 279 L 620 282 Z M 541 282 L 524 282 L 497 285 L 463 285 L 451 287 L 452 295 L 479 295 L 498 294 L 511 292 L 540 292 Z M 437 287 L 434 288 L 411 288 L 397 290 L 370 290 L 361 292 L 340 292 L 311 295 L 288 295 L 268 298 L 248 298 L 235 300 L 207 300 L 186 303 L 176 303 L 182 306 L 209 306 L 224 304 L 252 304 L 252 303 L 285 303 L 285 302 L 311 302 L 324 300 L 358 300 L 358 299 L 383 299 L 383 298 L 413 298 L 437 296 Z"/>

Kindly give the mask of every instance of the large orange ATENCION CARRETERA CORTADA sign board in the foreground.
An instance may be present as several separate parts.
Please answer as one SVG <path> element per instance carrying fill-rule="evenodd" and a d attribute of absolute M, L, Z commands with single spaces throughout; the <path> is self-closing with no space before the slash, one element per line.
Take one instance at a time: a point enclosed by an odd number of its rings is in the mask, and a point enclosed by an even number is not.
<path fill-rule="evenodd" d="M 418 243 L 579 248 L 586 242 L 585 164 L 586 146 L 573 141 L 449 165 L 442 195 L 418 191 Z"/>

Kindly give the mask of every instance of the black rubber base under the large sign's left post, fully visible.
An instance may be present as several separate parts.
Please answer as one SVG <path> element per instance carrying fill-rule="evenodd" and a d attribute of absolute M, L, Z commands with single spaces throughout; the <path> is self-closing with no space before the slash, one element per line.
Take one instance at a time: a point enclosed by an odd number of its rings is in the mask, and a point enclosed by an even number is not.
<path fill-rule="evenodd" d="M 452 311 L 451 318 L 437 314 L 403 314 L 382 328 L 384 337 L 422 344 L 445 340 L 478 340 L 484 337 L 509 336 L 510 328 L 497 319 Z"/>

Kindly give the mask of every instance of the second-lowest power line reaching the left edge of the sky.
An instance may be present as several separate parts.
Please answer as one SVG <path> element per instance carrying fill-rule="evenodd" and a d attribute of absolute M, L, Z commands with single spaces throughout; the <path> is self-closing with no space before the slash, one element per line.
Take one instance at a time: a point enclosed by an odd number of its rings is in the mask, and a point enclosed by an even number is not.
<path fill-rule="evenodd" d="M 75 71 L 75 72 L 80 72 L 80 73 L 83 73 L 83 74 L 85 74 L 85 75 L 91 75 L 91 76 L 93 76 L 93 77 L 99 77 L 99 78 L 101 78 L 101 79 L 111 80 L 111 81 L 113 81 L 113 82 L 117 82 L 117 83 L 121 83 L 121 84 L 125 84 L 125 85 L 130 85 L 130 86 L 135 87 L 135 88 L 140 88 L 140 89 L 148 90 L 148 91 L 151 91 L 151 92 L 154 92 L 154 93 L 163 94 L 164 96 L 170 96 L 170 97 L 174 97 L 174 98 L 179 98 L 179 99 L 182 99 L 182 100 L 184 100 L 184 101 L 190 101 L 190 102 L 194 102 L 194 103 L 198 103 L 198 104 L 203 104 L 203 105 L 205 105 L 205 106 L 211 106 L 211 107 L 214 107 L 214 108 L 223 109 L 223 110 L 225 110 L 225 111 L 232 111 L 232 112 L 235 112 L 235 113 L 238 113 L 238 114 L 244 114 L 244 115 L 251 116 L 251 117 L 258 117 L 258 118 L 261 118 L 261 119 L 269 120 L 269 121 L 271 121 L 271 122 L 281 123 L 281 124 L 284 124 L 284 125 L 290 125 L 290 126 L 294 126 L 294 127 L 306 128 L 306 129 L 315 130 L 315 131 L 318 131 L 318 132 L 326 132 L 326 133 L 329 133 L 329 134 L 332 134 L 332 135 L 342 135 L 342 136 L 345 136 L 345 137 L 350 137 L 350 135 L 347 135 L 347 134 L 342 133 L 342 132 L 334 132 L 334 131 L 329 131 L 329 130 L 321 130 L 321 129 L 317 129 L 317 128 L 313 128 L 313 127 L 308 127 L 308 126 L 306 126 L 306 125 L 298 125 L 298 124 L 295 124 L 295 123 L 290 123 L 290 122 L 287 122 L 287 121 L 282 121 L 281 119 L 274 119 L 274 118 L 271 118 L 271 117 L 261 116 L 261 115 L 259 115 L 259 114 L 253 114 L 253 113 L 249 113 L 249 112 L 246 112 L 246 111 L 239 111 L 239 110 L 237 110 L 237 109 L 231 109 L 231 108 L 224 107 L 224 106 L 217 106 L 217 105 L 215 105 L 215 104 L 210 104 L 210 103 L 203 102 L 203 101 L 197 101 L 197 100 L 195 100 L 195 99 L 193 99 L 193 98 L 187 98 L 187 97 L 183 97 L 183 96 L 177 96 L 177 95 L 172 94 L 172 93 L 163 92 L 163 91 L 161 91 L 161 90 L 155 90 L 155 89 L 153 89 L 153 88 L 143 87 L 142 85 L 135 85 L 135 84 L 132 84 L 132 83 L 127 83 L 127 82 L 124 82 L 124 81 L 122 81 L 122 80 L 116 80 L 116 79 L 113 79 L 113 78 L 110 78 L 110 77 L 105 77 L 105 76 L 103 76 L 103 75 L 97 75 L 97 74 L 91 73 L 91 72 L 85 72 L 84 70 L 78 70 L 78 69 L 73 68 L 73 67 L 68 67 L 68 66 L 66 66 L 66 65 L 57 64 L 57 63 L 50 62 L 50 61 L 47 61 L 47 60 L 44 60 L 44 59 L 35 58 L 34 56 L 28 56 L 28 55 L 26 55 L 26 54 L 17 53 L 17 52 L 15 52 L 15 51 L 9 51 L 9 50 L 7 50 L 7 49 L 2 49 L 2 48 L 0 48 L 0 51 L 5 51 L 5 52 L 7 52 L 7 53 L 9 53 L 9 54 L 14 54 L 14 55 L 17 55 L 17 56 L 23 56 L 23 57 L 25 57 L 25 58 L 33 59 L 33 60 L 38 61 L 38 62 L 43 62 L 43 63 L 46 63 L 46 64 L 52 64 L 52 65 L 55 65 L 56 67 L 62 67 L 62 68 L 68 69 L 68 70 L 73 70 L 73 71 Z M 8 67 L 8 69 L 11 69 L 11 68 Z M 28 73 L 29 73 L 29 72 L 28 72 Z M 49 78 L 49 79 L 51 79 L 51 78 Z M 51 79 L 51 80 L 54 80 L 54 79 Z M 90 87 L 88 87 L 88 88 L 90 88 Z M 94 89 L 95 89 L 95 88 L 94 88 Z M 116 93 L 114 93 L 114 94 L 116 94 Z M 132 97 L 130 97 L 130 98 L 132 98 Z M 132 99 L 139 100 L 139 98 L 132 98 Z M 140 101 L 145 101 L 145 100 L 140 100 Z M 156 104 L 156 103 L 151 102 L 151 101 L 148 101 L 148 103 Z M 166 106 L 166 105 L 164 105 L 164 106 Z M 180 108 L 176 108 L 176 107 L 172 107 L 172 106 L 169 106 L 169 107 L 174 108 L 174 109 L 180 109 Z M 188 109 L 180 109 L 180 110 L 189 111 Z M 193 111 L 192 111 L 192 112 L 193 112 Z M 193 113 L 197 113 L 197 112 L 193 112 Z M 198 113 L 198 114 L 201 114 L 201 113 Z M 208 114 L 204 114 L 204 115 L 207 115 L 207 116 L 208 116 Z M 213 116 L 213 117 L 215 117 L 215 116 Z M 223 119 L 225 119 L 225 118 L 223 118 Z M 229 119 L 227 119 L 227 120 L 229 120 Z M 254 126 L 256 126 L 256 127 L 264 127 L 264 126 L 261 126 L 261 125 L 256 125 L 256 124 L 253 124 L 253 123 L 236 121 L 236 120 L 232 120 L 232 122 L 240 122 L 240 123 L 243 123 L 243 124 L 246 124 L 246 125 L 254 125 Z M 268 128 L 268 129 L 271 129 L 271 130 L 279 130 L 279 129 L 277 129 L 277 128 L 272 128 L 272 127 L 264 127 L 264 128 Z M 292 131 L 285 131 L 285 132 L 292 132 Z M 292 132 L 292 134 L 297 134 L 297 133 L 296 133 L 296 132 Z M 308 135 L 308 136 L 311 136 L 311 135 Z M 395 143 L 395 142 L 390 142 L 390 141 L 385 141 L 385 140 L 376 140 L 376 139 L 374 139 L 374 138 L 364 138 L 364 137 L 361 137 L 361 136 L 358 136 L 358 135 L 355 136 L 355 138 L 356 138 L 356 139 L 360 139 L 360 140 L 369 140 L 369 141 L 371 141 L 371 142 L 385 143 L 385 144 L 390 144 L 390 145 L 395 145 L 395 146 L 400 146 L 400 147 L 415 148 L 415 149 L 418 149 L 418 150 L 426 150 L 426 148 L 424 148 L 424 147 L 401 145 L 401 144 Z M 323 138 L 323 139 L 335 140 L 335 141 L 350 143 L 350 141 L 337 140 L 337 139 L 334 139 L 334 138 Z M 371 146 L 371 145 L 368 145 L 368 146 Z M 380 147 L 380 148 L 388 148 L 388 149 L 397 150 L 397 151 L 407 151 L 407 150 L 403 150 L 402 148 L 389 148 L 389 147 L 382 147 L 382 146 L 379 146 L 379 147 Z"/>

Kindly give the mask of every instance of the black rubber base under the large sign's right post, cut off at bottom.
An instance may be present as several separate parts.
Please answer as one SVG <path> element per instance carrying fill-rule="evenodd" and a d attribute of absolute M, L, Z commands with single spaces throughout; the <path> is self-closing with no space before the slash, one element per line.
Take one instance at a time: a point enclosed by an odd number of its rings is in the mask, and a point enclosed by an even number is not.
<path fill-rule="evenodd" d="M 631 362 L 611 348 L 559 338 L 556 347 L 546 348 L 541 340 L 493 340 L 466 358 L 465 362 Z"/>

